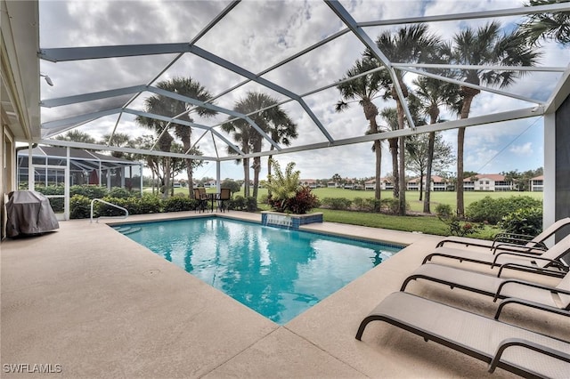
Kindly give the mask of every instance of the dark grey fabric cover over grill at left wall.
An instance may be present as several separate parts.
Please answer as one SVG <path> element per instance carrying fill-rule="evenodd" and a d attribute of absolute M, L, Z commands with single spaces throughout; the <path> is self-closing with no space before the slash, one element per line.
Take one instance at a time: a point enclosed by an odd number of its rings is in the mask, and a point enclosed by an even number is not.
<path fill-rule="evenodd" d="M 6 203 L 6 235 L 37 234 L 60 228 L 50 201 L 32 190 L 13 191 Z"/>

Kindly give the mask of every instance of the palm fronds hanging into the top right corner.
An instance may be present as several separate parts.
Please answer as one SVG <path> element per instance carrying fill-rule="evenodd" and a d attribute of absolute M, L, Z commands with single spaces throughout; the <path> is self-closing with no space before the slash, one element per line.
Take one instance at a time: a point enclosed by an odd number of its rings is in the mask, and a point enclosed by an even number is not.
<path fill-rule="evenodd" d="M 568 0 L 530 0 L 526 6 L 563 3 Z M 570 44 L 570 12 L 535 13 L 527 16 L 519 25 L 520 31 L 529 44 L 539 44 L 541 40 L 552 39 L 560 44 Z"/>

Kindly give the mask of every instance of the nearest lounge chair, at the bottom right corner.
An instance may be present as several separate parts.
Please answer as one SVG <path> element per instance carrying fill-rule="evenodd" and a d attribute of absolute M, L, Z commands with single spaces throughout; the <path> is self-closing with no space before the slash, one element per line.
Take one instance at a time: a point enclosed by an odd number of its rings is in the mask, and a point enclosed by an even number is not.
<path fill-rule="evenodd" d="M 362 339 L 371 321 L 385 321 L 423 337 L 426 342 L 432 340 L 482 360 L 489 364 L 491 373 L 501 367 L 525 377 L 568 377 L 569 342 L 503 323 L 499 316 L 489 319 L 414 294 L 396 292 L 362 319 L 356 339 Z"/>

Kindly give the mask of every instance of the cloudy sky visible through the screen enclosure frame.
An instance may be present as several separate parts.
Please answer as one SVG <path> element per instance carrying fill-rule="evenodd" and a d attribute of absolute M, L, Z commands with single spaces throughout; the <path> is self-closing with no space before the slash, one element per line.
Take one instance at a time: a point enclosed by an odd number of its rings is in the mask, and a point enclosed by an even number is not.
<path fill-rule="evenodd" d="M 221 12 L 228 2 L 220 1 L 58 1 L 40 0 L 40 48 L 99 46 L 110 44 L 159 44 L 187 43 L 199 36 L 199 31 Z M 523 4 L 517 0 L 454 0 L 454 1 L 341 1 L 357 21 L 391 20 L 411 16 L 429 16 L 461 12 L 508 9 Z M 505 30 L 513 28 L 521 19 L 501 18 Z M 478 28 L 486 20 L 458 20 L 429 24 L 431 33 L 450 39 L 462 28 Z M 214 53 L 224 60 L 232 61 L 248 71 L 259 73 L 286 59 L 292 54 L 321 41 L 345 28 L 330 8 L 321 1 L 244 1 L 200 36 L 196 45 Z M 364 28 L 371 38 L 382 31 L 395 27 Z M 354 61 L 360 58 L 364 47 L 353 35 L 346 34 L 330 44 L 309 52 L 286 65 L 265 74 L 263 77 L 297 94 L 334 84 L 345 76 Z M 562 46 L 544 43 L 541 48 L 541 66 L 566 67 L 570 52 Z M 73 62 L 49 62 L 41 60 L 42 73 L 49 75 L 53 86 L 42 83 L 41 98 L 53 99 L 79 93 L 105 91 L 130 85 L 155 85 L 173 77 L 191 77 L 198 80 L 209 93 L 218 95 L 243 82 L 243 77 L 220 68 L 196 55 L 184 54 L 175 60 L 175 54 L 149 55 L 102 60 L 79 60 Z M 173 63 L 174 61 L 174 63 Z M 167 68 L 165 70 L 165 68 Z M 164 72 L 163 72 L 164 71 Z M 406 83 L 415 76 L 406 74 Z M 533 73 L 517 80 L 508 91 L 538 101 L 547 101 L 561 74 L 551 72 Z M 235 101 L 243 99 L 248 91 L 264 91 L 278 101 L 287 98 L 256 83 L 241 85 L 230 93 L 216 99 L 215 104 L 232 109 Z M 129 108 L 142 110 L 144 99 L 151 93 L 142 93 Z M 42 122 L 75 116 L 90 109 L 122 106 L 130 96 L 120 96 L 105 101 L 87 101 L 80 104 L 42 110 Z M 362 108 L 357 102 L 346 111 L 335 112 L 335 104 L 341 100 L 335 87 L 307 95 L 303 98 L 334 139 L 361 136 L 367 129 Z M 379 109 L 394 107 L 394 101 L 375 99 Z M 481 116 L 511 109 L 532 107 L 534 104 L 493 93 L 476 96 L 471 116 Z M 297 123 L 299 137 L 291 146 L 326 141 L 324 134 L 297 101 L 289 101 L 281 108 Z M 192 115 L 201 125 L 216 125 L 228 119 L 227 115 L 211 118 Z M 453 119 L 448 110 L 442 109 L 442 117 Z M 379 117 L 379 125 L 385 122 Z M 136 137 L 149 134 L 136 125 L 134 116 L 102 117 L 80 125 L 77 130 L 90 133 L 97 140 L 116 130 Z M 50 132 L 48 130 L 48 132 Z M 232 140 L 232 136 L 223 133 Z M 443 132 L 444 141 L 455 151 L 457 131 Z M 205 156 L 227 156 L 223 141 L 209 133 L 194 129 L 192 141 L 196 142 Z M 269 144 L 265 144 L 265 149 Z M 391 157 L 387 144 L 383 146 L 382 176 L 391 173 Z M 542 117 L 478 125 L 467 129 L 465 143 L 466 171 L 477 173 L 500 173 L 512 170 L 525 171 L 543 165 Z M 374 175 L 375 156 L 371 142 L 313 149 L 277 157 L 284 167 L 289 161 L 304 179 L 325 179 L 338 173 L 342 177 L 364 178 Z M 266 159 L 262 161 L 261 177 L 266 175 Z M 450 166 L 450 173 L 455 167 Z M 200 167 L 194 177 L 216 177 L 216 164 Z M 243 177 L 242 165 L 234 160 L 221 164 L 221 178 Z"/>

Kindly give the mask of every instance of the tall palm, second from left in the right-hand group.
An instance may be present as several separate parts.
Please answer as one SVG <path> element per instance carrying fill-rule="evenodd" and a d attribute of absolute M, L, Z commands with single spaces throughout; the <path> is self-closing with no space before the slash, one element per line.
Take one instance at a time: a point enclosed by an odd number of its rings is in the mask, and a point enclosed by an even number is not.
<path fill-rule="evenodd" d="M 434 59 L 437 47 L 440 44 L 438 36 L 428 34 L 428 26 L 425 24 L 416 24 L 409 27 L 399 28 L 395 33 L 386 31 L 382 33 L 376 40 L 381 52 L 387 56 L 387 59 L 393 62 L 428 62 Z M 367 49 L 364 56 L 376 60 L 376 55 Z M 378 62 L 381 64 L 381 62 Z M 403 97 L 408 96 L 408 89 L 403 83 L 403 74 L 401 71 L 395 70 L 395 80 L 398 81 L 402 89 Z M 387 93 L 395 100 L 396 113 L 398 118 L 398 128 L 404 128 L 404 111 L 403 104 L 396 92 L 395 84 L 392 82 L 387 86 Z M 399 139 L 400 163 L 399 163 L 399 181 L 403 187 L 405 183 L 405 138 Z M 399 192 L 399 214 L 406 213 L 405 190 Z"/>

